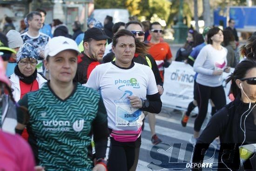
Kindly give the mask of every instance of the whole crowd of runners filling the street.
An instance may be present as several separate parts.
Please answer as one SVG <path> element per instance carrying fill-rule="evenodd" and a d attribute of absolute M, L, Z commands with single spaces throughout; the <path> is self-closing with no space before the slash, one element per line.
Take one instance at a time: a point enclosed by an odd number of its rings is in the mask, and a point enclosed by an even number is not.
<path fill-rule="evenodd" d="M 85 32 L 75 21 L 70 35 L 60 20 L 46 24 L 46 14 L 37 9 L 27 14 L 22 32 L 10 25 L 0 33 L 0 170 L 135 171 L 146 116 L 152 145 L 162 142 L 155 115 L 173 56 L 161 24 L 114 24 L 107 16 L 104 26 L 88 19 Z M 241 161 L 256 170 L 250 159 L 256 144 L 256 36 L 238 45 L 232 19 L 224 31 L 189 29 L 175 58 L 196 72 L 194 100 L 181 123 L 186 126 L 198 106 L 189 140 L 193 162 L 202 162 L 202 151 L 214 141 L 219 168 L 239 170 Z M 231 82 L 229 104 L 223 72 Z M 209 101 L 212 118 L 200 133 Z M 232 162 L 227 149 L 235 150 Z"/>

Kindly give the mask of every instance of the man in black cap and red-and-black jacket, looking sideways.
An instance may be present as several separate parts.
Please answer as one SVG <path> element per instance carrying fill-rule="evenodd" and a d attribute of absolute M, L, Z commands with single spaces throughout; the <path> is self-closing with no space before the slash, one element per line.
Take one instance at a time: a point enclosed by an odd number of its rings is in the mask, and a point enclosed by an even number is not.
<path fill-rule="evenodd" d="M 87 83 L 90 73 L 97 65 L 101 64 L 107 39 L 110 38 L 100 28 L 93 27 L 84 33 L 84 51 L 78 55 L 78 66 L 74 82 Z"/>

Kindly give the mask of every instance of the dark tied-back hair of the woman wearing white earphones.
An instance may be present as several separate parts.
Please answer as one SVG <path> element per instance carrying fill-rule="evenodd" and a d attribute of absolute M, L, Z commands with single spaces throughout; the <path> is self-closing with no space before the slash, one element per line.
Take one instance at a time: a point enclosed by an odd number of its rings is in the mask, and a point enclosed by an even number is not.
<path fill-rule="evenodd" d="M 236 85 L 236 79 L 243 79 L 246 73 L 256 67 L 256 60 L 246 59 L 237 64 L 233 73 L 226 79 L 226 84 L 231 81 L 229 94 L 232 93 L 235 98 L 241 97 L 241 89 Z"/>

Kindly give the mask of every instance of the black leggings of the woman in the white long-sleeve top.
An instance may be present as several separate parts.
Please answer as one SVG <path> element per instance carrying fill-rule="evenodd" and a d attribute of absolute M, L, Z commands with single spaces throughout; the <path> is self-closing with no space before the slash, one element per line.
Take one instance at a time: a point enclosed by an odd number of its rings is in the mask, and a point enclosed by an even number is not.
<path fill-rule="evenodd" d="M 200 132 L 202 123 L 207 115 L 209 99 L 214 103 L 216 110 L 226 105 L 226 97 L 223 86 L 209 87 L 196 83 L 196 100 L 198 105 L 198 116 L 195 118 L 194 130 Z"/>

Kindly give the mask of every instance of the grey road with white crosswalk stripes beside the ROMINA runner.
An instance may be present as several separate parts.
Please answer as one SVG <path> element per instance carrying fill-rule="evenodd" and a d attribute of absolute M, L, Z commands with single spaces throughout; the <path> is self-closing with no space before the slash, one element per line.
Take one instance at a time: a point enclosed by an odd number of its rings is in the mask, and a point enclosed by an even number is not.
<path fill-rule="evenodd" d="M 162 139 L 162 143 L 154 147 L 155 152 L 150 152 L 152 151 L 153 145 L 151 143 L 151 133 L 148 125 L 148 118 L 146 117 L 145 128 L 141 134 L 140 157 L 136 171 L 172 171 L 172 169 L 159 167 L 161 164 L 160 161 L 166 160 L 167 156 L 167 160 L 169 159 L 169 161 L 183 161 L 185 149 L 189 143 L 189 138 L 193 135 L 195 118 L 189 118 L 187 127 L 182 127 L 180 121 L 181 116 L 182 112 L 174 112 L 169 108 L 163 108 L 162 112 L 156 115 L 156 133 L 158 137 Z M 177 146 L 182 144 L 182 150 L 180 150 L 178 147 L 174 147 L 175 143 Z M 186 157 L 187 161 L 190 161 L 191 159 L 192 150 L 190 150 L 189 153 L 186 153 L 186 155 L 188 154 L 188 157 Z M 213 162 L 214 159 L 217 159 L 217 153 L 215 158 L 211 158 L 209 162 Z M 154 164 L 148 165 L 150 162 L 154 162 Z M 189 169 L 186 171 L 189 171 Z"/>

